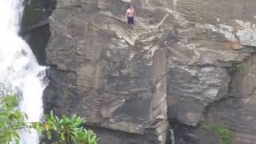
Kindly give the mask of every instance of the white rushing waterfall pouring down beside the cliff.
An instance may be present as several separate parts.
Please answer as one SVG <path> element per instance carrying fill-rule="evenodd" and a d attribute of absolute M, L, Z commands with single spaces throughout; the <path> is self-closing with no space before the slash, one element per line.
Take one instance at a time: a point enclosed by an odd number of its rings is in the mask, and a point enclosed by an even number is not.
<path fill-rule="evenodd" d="M 42 118 L 42 91 L 46 67 L 39 66 L 26 42 L 18 35 L 23 0 L 0 0 L 0 82 L 21 97 L 20 109 L 28 122 Z M 20 133 L 22 144 L 37 144 L 38 134 Z"/>

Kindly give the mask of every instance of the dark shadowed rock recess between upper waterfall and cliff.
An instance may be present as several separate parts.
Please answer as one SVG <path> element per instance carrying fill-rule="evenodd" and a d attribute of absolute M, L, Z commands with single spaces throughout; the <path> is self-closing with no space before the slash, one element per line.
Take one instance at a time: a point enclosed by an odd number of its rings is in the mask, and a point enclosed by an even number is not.
<path fill-rule="evenodd" d="M 25 0 L 20 34 L 29 43 L 39 64 L 46 65 L 45 48 L 50 38 L 48 18 L 56 0 Z"/>

